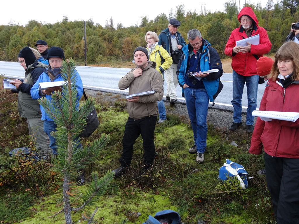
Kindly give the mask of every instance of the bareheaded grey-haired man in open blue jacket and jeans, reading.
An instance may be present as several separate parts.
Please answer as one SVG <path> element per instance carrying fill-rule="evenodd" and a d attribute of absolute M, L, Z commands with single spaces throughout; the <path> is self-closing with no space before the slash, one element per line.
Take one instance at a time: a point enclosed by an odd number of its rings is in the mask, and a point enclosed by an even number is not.
<path fill-rule="evenodd" d="M 215 98 L 223 69 L 217 51 L 202 38 L 199 30 L 190 30 L 187 38 L 190 44 L 183 47 L 177 75 L 179 85 L 184 91 L 193 130 L 194 145 L 189 149 L 189 153 L 197 153 L 196 162 L 202 163 L 207 145 L 208 104 L 209 100 L 213 102 Z M 210 69 L 218 69 L 218 71 L 202 73 Z"/>

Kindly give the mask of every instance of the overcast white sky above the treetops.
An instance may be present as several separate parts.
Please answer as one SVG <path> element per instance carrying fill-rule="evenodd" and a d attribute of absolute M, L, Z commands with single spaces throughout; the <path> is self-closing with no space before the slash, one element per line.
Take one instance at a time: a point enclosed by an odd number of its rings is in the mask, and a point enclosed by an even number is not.
<path fill-rule="evenodd" d="M 156 2 L 156 3 L 155 3 Z M 161 13 L 168 16 L 170 9 L 176 11 L 176 6 L 184 4 L 184 9 L 193 12 L 195 9 L 199 14 L 201 12 L 202 3 L 206 4 L 206 10 L 224 11 L 224 3 L 226 0 L 209 0 L 209 1 L 182 1 L 182 0 L 158 0 L 158 1 L 142 1 L 142 0 L 99 0 L 99 1 L 58 1 L 58 0 L 4 0 L 0 3 L 0 24 L 8 25 L 10 21 L 16 24 L 26 25 L 29 20 L 35 19 L 43 23 L 55 23 L 62 21 L 62 16 L 67 16 L 71 21 L 93 19 L 94 24 L 99 23 L 103 27 L 106 20 L 112 16 L 115 26 L 122 23 L 124 27 L 135 25 L 140 22 L 140 17 L 147 16 L 149 20 Z M 248 0 L 246 2 L 249 2 Z M 251 3 L 261 3 L 262 7 L 266 6 L 268 0 L 251 0 Z M 274 0 L 276 3 L 277 0 Z M 237 0 L 239 3 L 239 0 Z M 240 0 L 240 6 L 245 4 L 245 0 Z M 204 5 L 203 5 L 204 9 Z"/>

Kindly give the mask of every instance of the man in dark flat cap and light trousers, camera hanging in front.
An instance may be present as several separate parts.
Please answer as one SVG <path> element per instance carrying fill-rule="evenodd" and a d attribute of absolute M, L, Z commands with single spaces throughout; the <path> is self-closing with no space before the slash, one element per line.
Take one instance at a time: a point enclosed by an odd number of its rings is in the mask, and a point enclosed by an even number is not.
<path fill-rule="evenodd" d="M 176 100 L 178 99 L 176 96 L 176 86 L 178 85 L 176 70 L 183 53 L 182 48 L 186 46 L 184 38 L 177 31 L 180 25 L 177 19 L 170 19 L 168 28 L 162 30 L 158 37 L 158 45 L 167 50 L 173 61 L 172 65 L 164 73 L 167 83 L 166 99 L 170 99 L 170 104 L 176 104 Z"/>

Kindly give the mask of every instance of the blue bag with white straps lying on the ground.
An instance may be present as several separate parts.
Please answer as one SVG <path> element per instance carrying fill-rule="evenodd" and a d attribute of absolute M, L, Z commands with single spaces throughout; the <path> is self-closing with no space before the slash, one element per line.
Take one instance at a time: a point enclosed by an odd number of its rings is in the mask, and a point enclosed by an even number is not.
<path fill-rule="evenodd" d="M 240 181 L 240 186 L 242 189 L 248 187 L 247 176 L 248 173 L 245 171 L 244 167 L 238 163 L 232 162 L 229 159 L 225 160 L 225 164 L 219 169 L 218 179 L 224 182 L 228 177 L 237 177 Z"/>

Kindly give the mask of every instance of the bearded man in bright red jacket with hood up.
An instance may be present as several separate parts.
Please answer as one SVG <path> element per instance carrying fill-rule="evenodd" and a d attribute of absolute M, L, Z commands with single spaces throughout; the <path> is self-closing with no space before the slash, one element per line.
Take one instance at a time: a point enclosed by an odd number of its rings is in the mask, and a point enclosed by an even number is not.
<path fill-rule="evenodd" d="M 257 75 L 257 60 L 263 57 L 271 49 L 271 42 L 267 31 L 258 26 L 258 20 L 251 7 L 244 7 L 238 14 L 241 23 L 239 28 L 231 32 L 231 36 L 226 43 L 224 53 L 232 57 L 231 67 L 233 68 L 233 100 L 234 107 L 233 124 L 229 128 L 235 131 L 242 125 L 242 94 L 246 82 L 248 108 L 246 116 L 246 131 L 253 131 L 252 111 L 257 108 L 257 85 L 259 76 Z M 260 44 L 252 45 L 247 42 L 245 47 L 237 47 L 236 42 L 251 36 L 260 35 Z"/>

